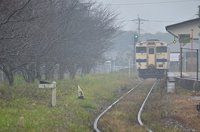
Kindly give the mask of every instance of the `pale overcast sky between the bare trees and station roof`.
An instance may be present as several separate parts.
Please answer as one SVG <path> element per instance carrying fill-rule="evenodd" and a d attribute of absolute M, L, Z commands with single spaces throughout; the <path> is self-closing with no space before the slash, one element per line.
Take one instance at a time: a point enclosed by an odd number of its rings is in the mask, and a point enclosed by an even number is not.
<path fill-rule="evenodd" d="M 197 18 L 200 0 L 96 0 L 110 4 L 124 21 L 123 30 L 136 31 L 138 18 L 149 21 L 141 24 L 141 33 L 166 32 L 165 26 Z"/>

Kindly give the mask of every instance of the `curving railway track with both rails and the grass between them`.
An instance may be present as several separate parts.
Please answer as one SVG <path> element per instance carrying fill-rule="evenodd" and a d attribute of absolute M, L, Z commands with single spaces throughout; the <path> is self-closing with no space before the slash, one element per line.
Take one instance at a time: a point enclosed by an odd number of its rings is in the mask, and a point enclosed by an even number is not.
<path fill-rule="evenodd" d="M 144 124 L 141 120 L 141 113 L 156 82 L 156 80 L 152 79 L 145 80 L 116 100 L 95 119 L 94 130 L 96 132 L 108 131 L 108 129 L 112 129 L 111 131 L 120 131 L 119 129 L 123 129 L 121 131 L 124 131 L 124 129 L 126 129 L 126 131 L 132 131 L 131 129 L 137 127 L 137 129 L 146 129 L 152 132 L 148 128 L 143 127 Z M 123 121 L 120 122 L 118 118 L 121 119 L 123 117 Z M 116 124 L 116 122 L 119 124 Z M 122 127 L 118 125 L 122 125 Z M 141 128 L 138 128 L 139 125 Z"/>

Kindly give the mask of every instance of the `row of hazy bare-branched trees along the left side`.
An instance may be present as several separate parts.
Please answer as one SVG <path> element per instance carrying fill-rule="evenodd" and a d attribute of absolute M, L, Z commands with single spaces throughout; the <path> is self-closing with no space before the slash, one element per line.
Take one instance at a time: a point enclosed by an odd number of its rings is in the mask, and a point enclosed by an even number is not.
<path fill-rule="evenodd" d="M 50 79 L 56 66 L 59 79 L 88 73 L 111 46 L 116 17 L 93 1 L 0 0 L 0 69 L 10 85 L 16 72 L 28 83 Z"/>

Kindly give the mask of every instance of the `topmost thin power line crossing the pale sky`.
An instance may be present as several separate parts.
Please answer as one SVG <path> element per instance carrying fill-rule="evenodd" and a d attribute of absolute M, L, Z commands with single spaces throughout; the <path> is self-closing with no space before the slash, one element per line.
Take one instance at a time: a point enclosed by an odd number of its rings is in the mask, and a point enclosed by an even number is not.
<path fill-rule="evenodd" d="M 127 3 L 127 4 L 112 4 L 112 5 L 128 6 L 128 5 L 166 4 L 166 3 L 191 2 L 191 1 L 200 1 L 200 0 L 163 1 L 163 2 L 144 2 L 144 3 Z"/>

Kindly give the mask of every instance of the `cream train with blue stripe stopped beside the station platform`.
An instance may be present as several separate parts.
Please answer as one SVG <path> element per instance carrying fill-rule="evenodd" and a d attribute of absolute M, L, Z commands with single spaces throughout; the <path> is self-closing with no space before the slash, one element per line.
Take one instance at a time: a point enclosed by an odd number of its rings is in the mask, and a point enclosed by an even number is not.
<path fill-rule="evenodd" d="M 136 68 L 143 79 L 162 79 L 170 66 L 170 50 L 167 43 L 150 39 L 136 44 Z"/>

